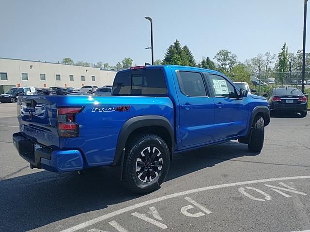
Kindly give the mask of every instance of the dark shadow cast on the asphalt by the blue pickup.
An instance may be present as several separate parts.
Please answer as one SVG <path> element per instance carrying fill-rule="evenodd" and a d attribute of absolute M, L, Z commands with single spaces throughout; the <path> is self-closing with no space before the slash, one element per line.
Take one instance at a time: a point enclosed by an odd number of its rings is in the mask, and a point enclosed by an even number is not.
<path fill-rule="evenodd" d="M 257 154 L 249 153 L 247 145 L 236 142 L 178 154 L 171 161 L 166 181 L 226 160 Z M 88 170 L 83 176 L 42 171 L 1 180 L 0 231 L 29 231 L 141 197 L 121 186 L 117 171 L 115 168 L 97 168 Z M 75 224 L 81 222 L 77 220 Z"/>

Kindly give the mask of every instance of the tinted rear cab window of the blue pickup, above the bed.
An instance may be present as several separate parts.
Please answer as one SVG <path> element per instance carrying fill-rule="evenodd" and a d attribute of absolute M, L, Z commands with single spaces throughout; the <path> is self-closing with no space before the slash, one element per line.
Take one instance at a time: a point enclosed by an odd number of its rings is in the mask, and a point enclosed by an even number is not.
<path fill-rule="evenodd" d="M 166 93 L 166 81 L 161 69 L 117 73 L 112 88 L 113 95 L 162 95 Z"/>

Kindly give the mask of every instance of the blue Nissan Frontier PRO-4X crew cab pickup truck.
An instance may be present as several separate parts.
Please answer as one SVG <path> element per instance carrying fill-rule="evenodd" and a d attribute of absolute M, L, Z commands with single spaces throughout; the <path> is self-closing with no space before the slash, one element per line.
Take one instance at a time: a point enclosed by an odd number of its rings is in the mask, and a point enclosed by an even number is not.
<path fill-rule="evenodd" d="M 174 65 L 116 74 L 111 96 L 19 96 L 19 155 L 52 172 L 120 166 L 124 186 L 146 193 L 164 181 L 173 154 L 238 139 L 261 151 L 265 98 L 223 74 Z"/>

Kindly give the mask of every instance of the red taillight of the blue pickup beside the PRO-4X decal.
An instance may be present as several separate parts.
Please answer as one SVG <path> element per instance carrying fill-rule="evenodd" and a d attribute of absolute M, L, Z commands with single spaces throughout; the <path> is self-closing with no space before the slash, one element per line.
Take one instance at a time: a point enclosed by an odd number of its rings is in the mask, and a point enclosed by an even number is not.
<path fill-rule="evenodd" d="M 76 115 L 82 110 L 83 107 L 57 108 L 57 131 L 59 137 L 78 137 L 78 123 L 76 123 Z"/>

